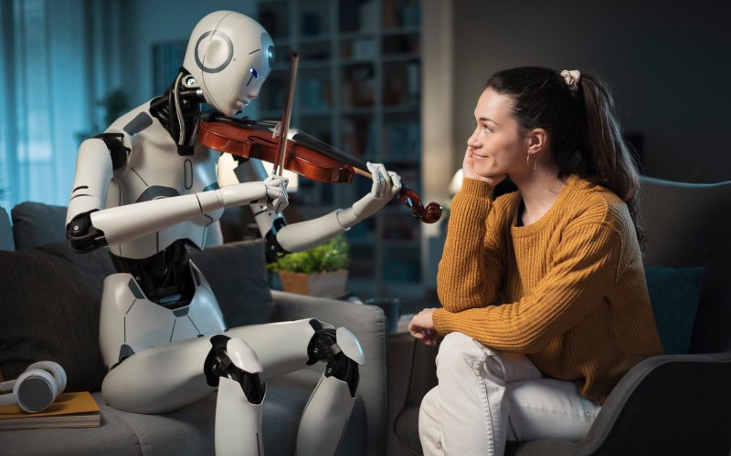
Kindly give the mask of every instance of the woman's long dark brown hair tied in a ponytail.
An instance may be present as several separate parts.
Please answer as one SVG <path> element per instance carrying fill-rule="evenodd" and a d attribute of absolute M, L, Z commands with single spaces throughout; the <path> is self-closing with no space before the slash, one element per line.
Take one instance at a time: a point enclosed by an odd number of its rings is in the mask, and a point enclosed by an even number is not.
<path fill-rule="evenodd" d="M 537 128 L 549 133 L 548 160 L 556 165 L 559 178 L 577 173 L 627 203 L 643 247 L 640 172 L 622 136 L 614 100 L 601 79 L 582 73 L 578 90 L 571 92 L 553 69 L 517 67 L 495 73 L 487 88 L 513 98 L 513 116 L 523 133 Z"/>

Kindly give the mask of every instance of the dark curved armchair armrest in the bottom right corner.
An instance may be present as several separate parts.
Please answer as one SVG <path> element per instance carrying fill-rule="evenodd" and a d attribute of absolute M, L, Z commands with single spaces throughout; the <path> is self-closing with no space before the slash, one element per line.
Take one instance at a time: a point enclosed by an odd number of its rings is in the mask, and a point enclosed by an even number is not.
<path fill-rule="evenodd" d="M 643 360 L 620 380 L 587 437 L 536 440 L 507 454 L 708 454 L 731 450 L 731 352 Z"/>

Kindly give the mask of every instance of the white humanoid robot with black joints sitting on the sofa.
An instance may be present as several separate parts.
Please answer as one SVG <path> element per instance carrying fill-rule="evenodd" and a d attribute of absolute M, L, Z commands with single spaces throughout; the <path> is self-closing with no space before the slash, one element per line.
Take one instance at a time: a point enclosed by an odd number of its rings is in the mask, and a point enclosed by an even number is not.
<path fill-rule="evenodd" d="M 104 281 L 102 395 L 117 409 L 160 413 L 216 388 L 217 454 L 262 454 L 266 380 L 317 361 L 323 377 L 302 413 L 300 455 L 333 454 L 355 402 L 364 354 L 347 328 L 316 319 L 228 329 L 206 278 L 187 257 L 202 248 L 224 208 L 249 205 L 262 236 L 282 253 L 344 233 L 401 189 L 368 164 L 373 187 L 353 206 L 287 225 L 284 178 L 219 186 L 221 155 L 196 144 L 200 104 L 226 116 L 244 109 L 270 73 L 274 47 L 235 12 L 204 17 L 163 96 L 132 109 L 79 147 L 67 214 L 72 248 L 109 245 L 118 274 Z"/>

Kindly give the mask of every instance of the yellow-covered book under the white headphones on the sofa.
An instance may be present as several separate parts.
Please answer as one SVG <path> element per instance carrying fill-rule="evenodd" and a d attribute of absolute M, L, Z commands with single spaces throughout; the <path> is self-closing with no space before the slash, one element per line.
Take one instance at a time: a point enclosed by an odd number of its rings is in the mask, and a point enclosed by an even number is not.
<path fill-rule="evenodd" d="M 93 428 L 101 425 L 101 410 L 88 391 L 63 393 L 48 409 L 26 413 L 16 404 L 0 406 L 0 430 Z"/>

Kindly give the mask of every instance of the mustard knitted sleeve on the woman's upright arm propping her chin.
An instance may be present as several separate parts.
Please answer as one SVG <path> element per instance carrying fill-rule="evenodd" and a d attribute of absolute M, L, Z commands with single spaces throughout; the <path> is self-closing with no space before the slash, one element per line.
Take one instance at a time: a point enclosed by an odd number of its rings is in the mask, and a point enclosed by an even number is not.
<path fill-rule="evenodd" d="M 493 187 L 465 178 L 452 200 L 447 239 L 437 273 L 441 305 L 461 312 L 495 303 L 503 277 L 492 220 Z"/>

